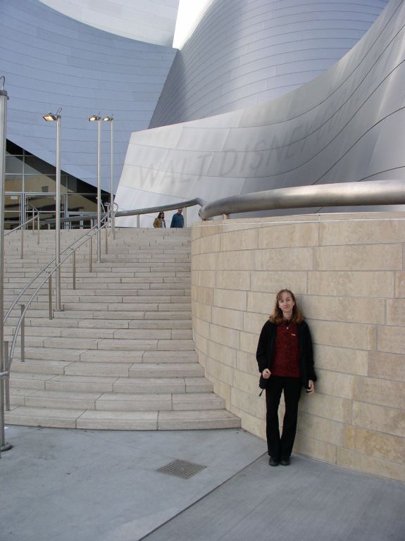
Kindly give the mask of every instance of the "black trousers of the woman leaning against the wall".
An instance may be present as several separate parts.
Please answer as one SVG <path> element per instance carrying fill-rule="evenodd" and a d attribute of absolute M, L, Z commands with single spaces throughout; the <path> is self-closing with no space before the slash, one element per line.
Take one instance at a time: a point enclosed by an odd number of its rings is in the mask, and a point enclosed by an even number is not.
<path fill-rule="evenodd" d="M 266 437 L 268 454 L 279 461 L 282 456 L 292 453 L 297 431 L 298 402 L 301 396 L 301 378 L 282 378 L 270 376 L 266 389 Z M 278 428 L 278 406 L 284 391 L 285 415 L 282 422 L 282 435 Z"/>

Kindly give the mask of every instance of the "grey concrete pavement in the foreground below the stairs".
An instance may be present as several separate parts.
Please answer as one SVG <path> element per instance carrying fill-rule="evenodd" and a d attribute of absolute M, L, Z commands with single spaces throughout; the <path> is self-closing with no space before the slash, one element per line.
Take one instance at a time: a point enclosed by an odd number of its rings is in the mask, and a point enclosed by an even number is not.
<path fill-rule="evenodd" d="M 405 485 L 293 456 L 243 430 L 11 426 L 0 541 L 404 541 Z M 191 478 L 156 471 L 175 459 Z"/>

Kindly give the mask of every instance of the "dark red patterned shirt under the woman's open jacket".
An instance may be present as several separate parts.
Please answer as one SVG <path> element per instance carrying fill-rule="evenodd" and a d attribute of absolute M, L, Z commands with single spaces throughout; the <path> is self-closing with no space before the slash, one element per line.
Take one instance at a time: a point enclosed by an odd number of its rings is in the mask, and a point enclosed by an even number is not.
<path fill-rule="evenodd" d="M 271 375 L 299 378 L 299 342 L 297 325 L 282 321 L 277 326 Z"/>

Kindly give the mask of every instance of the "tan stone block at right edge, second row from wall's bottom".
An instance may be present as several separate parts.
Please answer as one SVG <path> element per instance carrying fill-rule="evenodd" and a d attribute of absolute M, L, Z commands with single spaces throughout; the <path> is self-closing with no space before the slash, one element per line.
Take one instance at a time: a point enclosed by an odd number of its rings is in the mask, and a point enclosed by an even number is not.
<path fill-rule="evenodd" d="M 343 447 L 399 464 L 405 463 L 404 437 L 383 434 L 366 428 L 346 426 Z"/>

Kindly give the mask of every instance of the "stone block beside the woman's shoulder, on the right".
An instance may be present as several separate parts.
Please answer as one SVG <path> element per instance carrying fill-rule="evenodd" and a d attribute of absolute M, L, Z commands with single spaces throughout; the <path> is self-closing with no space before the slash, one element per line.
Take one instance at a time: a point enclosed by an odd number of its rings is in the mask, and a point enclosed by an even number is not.
<path fill-rule="evenodd" d="M 373 325 L 318 320 L 310 323 L 310 327 L 316 344 L 367 351 L 376 349 L 376 329 Z"/>

